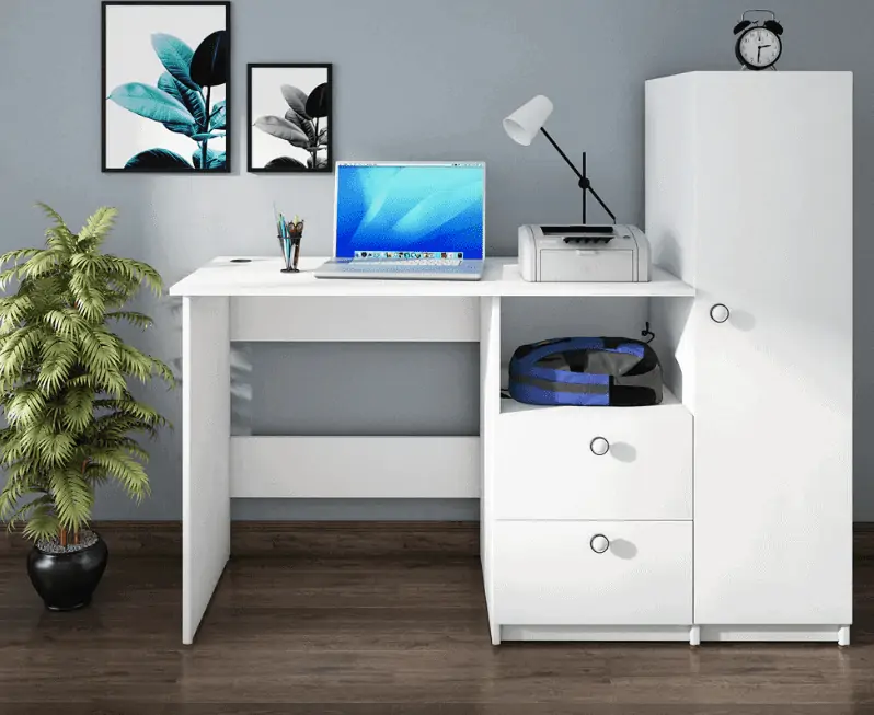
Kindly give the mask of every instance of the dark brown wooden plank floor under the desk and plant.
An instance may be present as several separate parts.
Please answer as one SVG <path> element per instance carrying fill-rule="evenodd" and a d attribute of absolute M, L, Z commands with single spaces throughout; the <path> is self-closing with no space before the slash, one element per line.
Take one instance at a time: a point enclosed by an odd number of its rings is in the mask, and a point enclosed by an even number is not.
<path fill-rule="evenodd" d="M 233 560 L 180 644 L 180 563 L 118 556 L 93 606 L 49 613 L 0 560 L 0 713 L 869 713 L 874 553 L 853 645 L 488 642 L 472 558 Z"/>

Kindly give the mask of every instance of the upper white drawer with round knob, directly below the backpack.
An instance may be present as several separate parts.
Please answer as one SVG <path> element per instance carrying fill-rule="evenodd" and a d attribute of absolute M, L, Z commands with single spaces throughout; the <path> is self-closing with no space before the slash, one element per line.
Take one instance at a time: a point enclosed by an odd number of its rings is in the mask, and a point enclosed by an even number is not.
<path fill-rule="evenodd" d="M 595 442 L 601 438 L 606 442 Z M 597 454 L 598 446 L 608 447 Z M 692 518 L 692 415 L 665 392 L 651 407 L 537 407 L 502 401 L 498 519 Z"/>

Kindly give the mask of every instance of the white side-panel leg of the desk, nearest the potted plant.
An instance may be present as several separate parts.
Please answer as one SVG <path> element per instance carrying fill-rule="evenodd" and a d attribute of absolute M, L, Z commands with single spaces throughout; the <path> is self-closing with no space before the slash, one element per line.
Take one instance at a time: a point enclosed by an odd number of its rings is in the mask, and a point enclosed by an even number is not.
<path fill-rule="evenodd" d="M 191 644 L 230 556 L 230 299 L 183 299 L 182 642 Z"/>

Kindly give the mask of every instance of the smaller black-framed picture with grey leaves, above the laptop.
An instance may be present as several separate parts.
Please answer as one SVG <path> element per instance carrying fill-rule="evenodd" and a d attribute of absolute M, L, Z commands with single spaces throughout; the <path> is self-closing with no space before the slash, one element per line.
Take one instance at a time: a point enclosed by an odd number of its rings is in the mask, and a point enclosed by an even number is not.
<path fill-rule="evenodd" d="M 249 65 L 249 171 L 331 173 L 331 65 Z"/>

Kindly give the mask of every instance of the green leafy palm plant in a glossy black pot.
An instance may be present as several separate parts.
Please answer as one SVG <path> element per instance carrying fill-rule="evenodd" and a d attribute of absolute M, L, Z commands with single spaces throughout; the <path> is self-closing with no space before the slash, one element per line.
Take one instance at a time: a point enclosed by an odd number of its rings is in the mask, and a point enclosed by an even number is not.
<path fill-rule="evenodd" d="M 151 319 L 127 310 L 142 285 L 156 296 L 161 276 L 140 261 L 101 252 L 117 214 L 101 208 L 78 234 L 54 221 L 45 249 L 0 256 L 0 519 L 34 542 L 27 570 L 46 607 L 87 606 L 108 551 L 89 529 L 94 489 L 110 480 L 136 500 L 149 494 L 148 453 L 137 436 L 166 424 L 128 389 L 154 377 L 173 387 L 170 368 L 125 343 L 118 322 L 147 328 Z M 11 264 L 11 265 L 10 265 Z"/>

